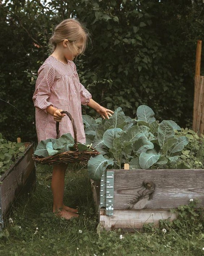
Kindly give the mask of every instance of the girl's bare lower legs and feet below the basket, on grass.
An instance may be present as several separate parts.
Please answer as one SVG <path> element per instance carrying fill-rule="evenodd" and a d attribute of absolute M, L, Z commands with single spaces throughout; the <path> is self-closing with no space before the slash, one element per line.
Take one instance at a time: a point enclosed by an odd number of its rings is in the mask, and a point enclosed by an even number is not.
<path fill-rule="evenodd" d="M 53 212 L 59 216 L 70 219 L 72 217 L 78 217 L 79 215 L 74 213 L 77 212 L 77 209 L 66 207 L 63 204 L 66 168 L 67 166 L 65 164 L 53 166 L 51 188 L 53 194 Z"/>

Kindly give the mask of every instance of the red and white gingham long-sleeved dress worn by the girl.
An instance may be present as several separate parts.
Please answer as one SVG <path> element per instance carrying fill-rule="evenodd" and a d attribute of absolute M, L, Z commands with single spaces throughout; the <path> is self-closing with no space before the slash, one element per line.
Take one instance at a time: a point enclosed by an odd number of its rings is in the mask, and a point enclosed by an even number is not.
<path fill-rule="evenodd" d="M 33 95 L 38 142 L 56 138 L 56 122 L 46 108 L 53 106 L 71 113 L 77 129 L 77 141 L 85 143 L 82 107 L 91 99 L 91 93 L 79 82 L 77 69 L 73 61 L 67 64 L 49 56 L 38 70 L 38 77 Z M 71 133 L 73 126 L 68 116 L 59 123 L 60 136 Z"/>

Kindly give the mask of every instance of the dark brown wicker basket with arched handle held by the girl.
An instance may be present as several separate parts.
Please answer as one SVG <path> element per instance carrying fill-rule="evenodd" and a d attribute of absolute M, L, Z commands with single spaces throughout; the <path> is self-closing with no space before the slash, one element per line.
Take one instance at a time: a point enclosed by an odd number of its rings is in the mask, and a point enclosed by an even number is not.
<path fill-rule="evenodd" d="M 79 162 L 87 162 L 90 157 L 95 157 L 96 155 L 100 154 L 96 149 L 91 148 L 92 151 L 82 151 L 79 152 L 79 148 L 77 145 L 77 130 L 74 125 L 74 119 L 72 118 L 71 114 L 67 111 L 62 111 L 61 113 L 65 113 L 68 115 L 69 119 L 71 120 L 73 130 L 74 130 L 74 149 L 75 151 L 67 151 L 59 154 L 55 154 L 53 156 L 48 157 L 40 157 L 33 154 L 33 160 L 38 164 L 59 164 L 59 163 L 79 163 Z M 57 139 L 59 138 L 59 122 L 56 122 L 56 131 L 57 131 Z"/>

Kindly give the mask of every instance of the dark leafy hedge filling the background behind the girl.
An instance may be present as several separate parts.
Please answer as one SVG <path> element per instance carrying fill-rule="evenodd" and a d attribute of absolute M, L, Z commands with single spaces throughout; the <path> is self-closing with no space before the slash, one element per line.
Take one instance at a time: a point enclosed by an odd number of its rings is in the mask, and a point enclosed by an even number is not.
<path fill-rule="evenodd" d="M 53 27 L 69 17 L 91 34 L 76 64 L 94 100 L 112 110 L 121 106 L 131 117 L 148 105 L 156 119 L 191 127 L 202 0 L 13 0 L 0 5 L 0 17 L 0 132 L 6 139 L 36 140 L 37 70 L 49 55 Z"/>

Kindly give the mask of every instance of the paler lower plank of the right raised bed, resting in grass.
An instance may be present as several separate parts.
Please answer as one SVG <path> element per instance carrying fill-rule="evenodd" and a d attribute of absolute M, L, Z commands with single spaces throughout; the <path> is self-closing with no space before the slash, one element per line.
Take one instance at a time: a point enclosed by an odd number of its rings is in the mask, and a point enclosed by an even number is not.
<path fill-rule="evenodd" d="M 158 226 L 159 220 L 168 219 L 172 221 L 177 218 L 177 214 L 169 210 L 145 209 L 145 210 L 114 210 L 112 216 L 100 213 L 100 228 L 106 230 L 123 229 L 127 231 L 142 230 L 142 226 L 154 223 Z"/>

